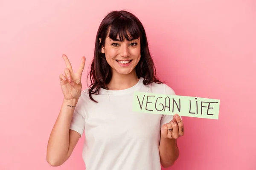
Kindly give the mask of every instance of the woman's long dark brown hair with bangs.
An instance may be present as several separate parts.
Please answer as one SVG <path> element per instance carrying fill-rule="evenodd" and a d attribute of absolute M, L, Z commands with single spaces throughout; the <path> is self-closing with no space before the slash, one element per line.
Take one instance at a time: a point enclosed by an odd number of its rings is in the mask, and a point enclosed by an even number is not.
<path fill-rule="evenodd" d="M 128 11 L 111 11 L 105 16 L 99 26 L 95 40 L 94 57 L 91 62 L 90 72 L 87 75 L 87 81 L 90 75 L 90 81 L 92 83 L 89 86 L 89 96 L 91 100 L 96 102 L 92 94 L 99 94 L 100 88 L 108 89 L 107 85 L 112 78 L 111 67 L 106 61 L 105 54 L 101 52 L 101 47 L 105 45 L 108 31 L 109 37 L 113 40 L 119 37 L 121 41 L 123 41 L 124 38 L 130 41 L 140 37 L 141 58 L 135 67 L 137 77 L 144 77 L 144 85 L 149 85 L 153 82 L 162 83 L 156 76 L 156 69 L 148 49 L 148 40 L 143 24 L 134 14 Z"/>

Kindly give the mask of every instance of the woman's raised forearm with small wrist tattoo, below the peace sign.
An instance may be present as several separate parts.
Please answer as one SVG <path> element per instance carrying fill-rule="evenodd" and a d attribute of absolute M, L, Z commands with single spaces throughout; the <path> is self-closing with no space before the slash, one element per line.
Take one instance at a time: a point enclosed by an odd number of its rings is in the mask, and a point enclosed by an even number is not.
<path fill-rule="evenodd" d="M 47 146 L 47 161 L 63 162 L 68 153 L 70 143 L 70 122 L 73 117 L 76 100 L 63 100 L 58 118 L 52 128 Z M 71 106 L 71 107 L 70 107 Z M 57 163 L 58 164 L 58 163 Z"/>

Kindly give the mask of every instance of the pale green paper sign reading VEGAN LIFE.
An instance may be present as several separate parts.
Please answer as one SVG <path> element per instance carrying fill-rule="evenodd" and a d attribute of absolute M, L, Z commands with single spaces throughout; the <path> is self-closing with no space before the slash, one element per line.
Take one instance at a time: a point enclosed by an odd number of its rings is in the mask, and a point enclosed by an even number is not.
<path fill-rule="evenodd" d="M 133 111 L 218 119 L 220 100 L 191 96 L 134 93 Z"/>

